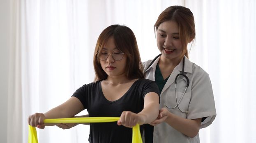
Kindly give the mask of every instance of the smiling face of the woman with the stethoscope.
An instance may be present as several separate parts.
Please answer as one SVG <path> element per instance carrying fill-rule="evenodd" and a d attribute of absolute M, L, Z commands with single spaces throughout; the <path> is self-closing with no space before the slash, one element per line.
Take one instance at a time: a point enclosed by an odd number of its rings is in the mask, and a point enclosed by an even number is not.
<path fill-rule="evenodd" d="M 161 58 L 180 60 L 183 55 L 177 22 L 168 20 L 159 25 L 157 29 L 157 47 L 162 53 Z"/>

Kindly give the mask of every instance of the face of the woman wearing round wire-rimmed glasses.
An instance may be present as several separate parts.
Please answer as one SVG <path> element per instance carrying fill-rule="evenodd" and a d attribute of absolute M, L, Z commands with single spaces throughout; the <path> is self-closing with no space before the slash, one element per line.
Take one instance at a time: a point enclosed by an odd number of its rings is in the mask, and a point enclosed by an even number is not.
<path fill-rule="evenodd" d="M 120 54 L 120 50 L 115 46 L 115 40 L 110 37 L 104 47 L 99 52 L 99 55 L 108 55 L 106 60 L 100 60 L 101 68 L 106 72 L 108 76 L 117 78 L 120 76 L 125 76 L 125 66 L 127 57 L 122 55 L 121 60 L 115 60 L 111 54 Z M 116 56 L 118 57 L 118 56 Z"/>

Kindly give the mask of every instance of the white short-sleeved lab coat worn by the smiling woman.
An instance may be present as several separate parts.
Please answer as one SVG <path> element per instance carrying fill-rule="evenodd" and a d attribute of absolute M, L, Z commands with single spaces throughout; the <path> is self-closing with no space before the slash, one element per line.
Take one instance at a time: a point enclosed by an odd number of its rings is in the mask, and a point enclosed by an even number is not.
<path fill-rule="evenodd" d="M 146 72 L 146 78 L 155 81 L 155 70 L 157 63 L 159 61 L 158 57 L 155 62 L 150 65 L 152 60 L 148 60 L 143 63 Z M 163 90 L 160 94 L 160 108 L 165 107 L 175 107 L 175 87 L 174 87 L 174 79 L 177 74 L 180 74 L 182 71 L 183 59 L 177 65 L 171 76 L 168 78 L 166 84 L 164 85 Z M 148 69 L 146 69 L 148 67 Z M 182 118 L 187 119 L 195 119 L 195 118 L 206 118 L 202 123 L 201 127 L 207 127 L 212 123 L 214 118 L 216 117 L 215 103 L 212 92 L 212 84 L 209 78 L 209 75 L 198 65 L 189 61 L 187 57 L 185 57 L 185 67 L 184 72 L 186 76 L 189 78 L 189 87 L 187 92 L 183 96 L 180 101 L 179 107 L 182 111 L 188 111 L 188 113 L 182 113 L 176 107 L 175 109 L 168 109 L 171 113 L 178 115 Z M 180 78 L 184 78 L 181 76 Z M 184 78 L 185 79 L 185 78 Z M 178 101 L 184 92 L 186 87 L 185 80 L 177 81 L 177 98 Z M 199 134 L 197 134 L 194 138 L 190 138 L 185 136 L 181 132 L 178 132 L 173 127 L 168 125 L 167 123 L 161 123 L 154 127 L 154 143 L 199 143 Z"/>

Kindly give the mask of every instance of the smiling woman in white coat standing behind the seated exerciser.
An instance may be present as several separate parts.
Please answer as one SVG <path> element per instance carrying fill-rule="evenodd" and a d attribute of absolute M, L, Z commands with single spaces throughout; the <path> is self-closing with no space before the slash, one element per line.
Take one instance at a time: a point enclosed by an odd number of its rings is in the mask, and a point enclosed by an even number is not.
<path fill-rule="evenodd" d="M 154 127 L 145 127 L 144 142 L 199 143 L 199 129 L 212 123 L 216 110 L 209 75 L 188 59 L 187 45 L 196 35 L 193 13 L 182 6 L 168 7 L 159 15 L 155 33 L 161 54 L 143 66 L 146 78 L 160 89 L 160 109 L 150 123 Z"/>

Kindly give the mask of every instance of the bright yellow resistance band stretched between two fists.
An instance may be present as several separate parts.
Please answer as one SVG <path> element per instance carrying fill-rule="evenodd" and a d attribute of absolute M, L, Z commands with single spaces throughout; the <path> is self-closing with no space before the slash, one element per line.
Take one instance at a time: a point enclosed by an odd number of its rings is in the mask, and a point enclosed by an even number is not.
<path fill-rule="evenodd" d="M 44 123 L 104 123 L 118 121 L 119 117 L 83 117 L 83 118 L 53 118 L 45 119 Z M 28 143 L 38 143 L 37 130 L 30 125 L 28 129 Z M 140 126 L 132 127 L 131 143 L 142 143 Z"/>

